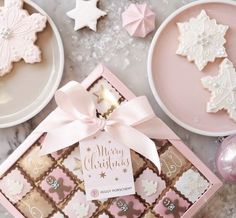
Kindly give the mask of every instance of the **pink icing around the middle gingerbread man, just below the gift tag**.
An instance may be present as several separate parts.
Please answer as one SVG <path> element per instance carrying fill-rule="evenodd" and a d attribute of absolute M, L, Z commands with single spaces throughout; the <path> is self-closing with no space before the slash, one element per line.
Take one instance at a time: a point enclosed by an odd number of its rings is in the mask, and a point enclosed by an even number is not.
<path fill-rule="evenodd" d="M 133 208 L 135 210 L 140 210 L 141 213 L 143 213 L 145 206 L 139 201 L 137 200 L 133 195 L 128 195 L 128 196 L 124 196 L 124 197 L 120 197 L 120 198 L 116 198 L 117 200 L 121 199 L 124 200 L 127 204 L 129 202 L 133 202 L 134 206 Z M 118 213 L 121 211 L 120 208 L 116 205 L 116 201 L 114 200 L 113 203 L 111 204 L 111 206 L 109 207 L 108 211 L 114 215 L 115 217 L 123 217 L 123 218 L 127 218 L 126 216 L 119 216 Z M 141 215 L 141 213 L 139 215 Z M 137 218 L 139 216 L 135 215 L 133 217 L 130 218 Z"/>

